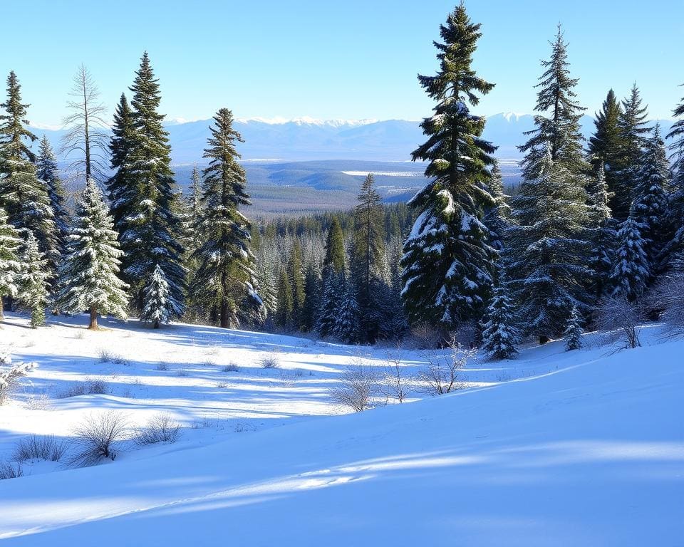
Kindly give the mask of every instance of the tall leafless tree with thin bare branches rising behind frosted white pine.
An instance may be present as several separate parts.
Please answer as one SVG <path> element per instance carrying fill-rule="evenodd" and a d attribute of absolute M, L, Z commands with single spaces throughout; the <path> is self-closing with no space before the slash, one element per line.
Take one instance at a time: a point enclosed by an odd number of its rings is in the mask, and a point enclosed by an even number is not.
<path fill-rule="evenodd" d="M 108 170 L 108 124 L 103 119 L 107 109 L 100 103 L 100 92 L 85 65 L 73 77 L 73 87 L 66 103 L 71 114 L 64 118 L 66 133 L 60 152 L 71 160 L 68 168 L 75 177 L 85 176 L 101 182 Z"/>

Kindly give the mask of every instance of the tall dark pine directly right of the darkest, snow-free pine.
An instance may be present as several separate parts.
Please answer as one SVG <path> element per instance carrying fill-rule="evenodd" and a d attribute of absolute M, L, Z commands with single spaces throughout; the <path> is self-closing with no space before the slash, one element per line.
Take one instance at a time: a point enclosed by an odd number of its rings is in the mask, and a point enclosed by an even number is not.
<path fill-rule="evenodd" d="M 641 106 L 641 95 L 636 83 L 632 86 L 629 98 L 623 100 L 623 112 L 618 120 L 621 148 L 616 187 L 613 190 L 613 217 L 622 222 L 629 215 L 631 203 L 639 182 L 641 153 L 646 142 L 647 107 Z"/>

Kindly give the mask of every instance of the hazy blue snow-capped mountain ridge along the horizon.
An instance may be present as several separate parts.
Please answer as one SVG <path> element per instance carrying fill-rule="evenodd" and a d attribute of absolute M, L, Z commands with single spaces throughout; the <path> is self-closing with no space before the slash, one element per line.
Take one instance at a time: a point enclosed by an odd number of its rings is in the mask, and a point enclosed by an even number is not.
<path fill-rule="evenodd" d="M 209 136 L 212 120 L 185 122 L 169 120 L 169 132 L 174 164 L 202 163 L 202 150 Z M 266 118 L 235 120 L 235 129 L 244 143 L 238 146 L 242 159 L 310 161 L 310 160 L 373 160 L 401 162 L 425 139 L 418 121 L 410 120 L 315 120 L 296 118 L 284 120 Z M 594 130 L 594 118 L 584 115 L 581 129 L 585 137 Z M 663 132 L 672 125 L 660 122 Z M 653 125 L 653 123 L 652 123 Z M 534 128 L 530 114 L 500 113 L 489 116 L 484 137 L 497 145 L 497 157 L 520 157 L 517 146 L 525 141 L 525 131 Z M 37 135 L 45 134 L 58 149 L 63 130 L 32 127 Z"/>

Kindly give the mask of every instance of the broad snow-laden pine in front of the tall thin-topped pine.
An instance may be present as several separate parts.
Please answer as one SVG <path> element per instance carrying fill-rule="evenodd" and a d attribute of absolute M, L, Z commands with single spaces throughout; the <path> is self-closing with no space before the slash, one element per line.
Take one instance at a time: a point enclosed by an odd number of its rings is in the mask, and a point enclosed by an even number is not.
<path fill-rule="evenodd" d="M 546 343 L 561 333 L 573 308 L 591 301 L 591 244 L 582 239 L 588 224 L 584 186 L 551 159 L 550 147 L 539 169 L 539 177 L 524 178 L 512 199 L 508 270 L 527 333 Z"/>

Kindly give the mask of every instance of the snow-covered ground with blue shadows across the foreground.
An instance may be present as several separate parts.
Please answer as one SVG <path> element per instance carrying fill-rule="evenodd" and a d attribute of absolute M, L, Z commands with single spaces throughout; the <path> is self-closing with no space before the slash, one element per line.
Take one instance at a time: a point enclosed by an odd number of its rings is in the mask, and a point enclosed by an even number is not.
<path fill-rule="evenodd" d="M 330 387 L 359 359 L 385 370 L 387 349 L 26 323 L 9 314 L 0 328 L 15 360 L 38 363 L 0 407 L 0 461 L 105 410 L 184 427 L 175 444 L 124 442 L 95 467 L 24 464 L 0 481 L 7 545 L 684 545 L 684 342 L 657 325 L 636 350 L 597 335 L 573 352 L 549 343 L 470 363 L 470 389 L 341 415 Z M 261 368 L 271 356 L 279 368 Z M 407 376 L 425 366 L 420 351 L 401 357 Z M 92 380 L 107 393 L 66 397 Z"/>

